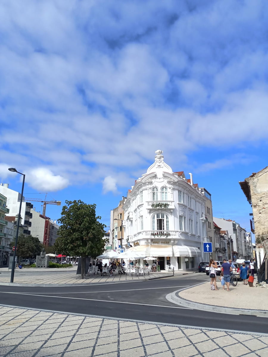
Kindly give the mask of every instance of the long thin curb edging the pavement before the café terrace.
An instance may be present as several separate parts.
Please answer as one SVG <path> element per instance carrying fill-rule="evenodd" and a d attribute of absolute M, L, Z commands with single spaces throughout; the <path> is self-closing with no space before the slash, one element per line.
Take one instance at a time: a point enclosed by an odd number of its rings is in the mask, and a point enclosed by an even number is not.
<path fill-rule="evenodd" d="M 23 287 L 70 287 L 70 286 L 90 286 L 90 285 L 103 285 L 103 284 L 118 284 L 118 283 L 132 283 L 132 282 L 142 282 L 142 281 L 147 281 L 147 280 L 155 280 L 155 279 L 163 279 L 163 278 L 170 278 L 173 277 L 173 275 L 165 275 L 165 276 L 158 276 L 155 278 L 145 278 L 143 280 L 125 280 L 125 281 L 105 281 L 105 282 L 93 282 L 93 283 L 73 283 L 73 284 L 21 284 L 21 283 L 2 283 L 0 282 L 0 286 L 23 286 Z"/>

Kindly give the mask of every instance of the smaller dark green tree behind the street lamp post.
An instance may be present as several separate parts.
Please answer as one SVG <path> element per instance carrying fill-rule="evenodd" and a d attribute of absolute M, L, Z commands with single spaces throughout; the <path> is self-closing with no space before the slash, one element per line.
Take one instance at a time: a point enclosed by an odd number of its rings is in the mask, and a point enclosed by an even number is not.
<path fill-rule="evenodd" d="M 10 243 L 10 248 L 15 245 L 15 239 Z M 43 244 L 37 237 L 20 234 L 18 236 L 16 255 L 23 258 L 34 258 L 43 249 Z"/>

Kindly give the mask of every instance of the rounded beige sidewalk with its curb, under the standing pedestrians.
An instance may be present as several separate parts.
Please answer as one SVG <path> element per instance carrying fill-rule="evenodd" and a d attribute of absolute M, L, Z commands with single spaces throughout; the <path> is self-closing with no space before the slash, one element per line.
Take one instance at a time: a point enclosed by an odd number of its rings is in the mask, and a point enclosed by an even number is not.
<path fill-rule="evenodd" d="M 228 292 L 220 283 L 217 285 L 219 291 L 210 290 L 208 281 L 168 294 L 167 298 L 178 305 L 198 310 L 268 317 L 268 289 L 238 282 L 236 287 L 230 286 L 231 291 Z"/>

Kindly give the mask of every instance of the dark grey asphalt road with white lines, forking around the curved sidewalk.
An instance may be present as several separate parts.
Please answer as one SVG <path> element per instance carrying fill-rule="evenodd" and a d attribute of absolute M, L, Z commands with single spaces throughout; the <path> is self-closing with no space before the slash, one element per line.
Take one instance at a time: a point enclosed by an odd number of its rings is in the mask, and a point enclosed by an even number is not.
<path fill-rule="evenodd" d="M 0 286 L 0 304 L 195 327 L 268 333 L 267 318 L 181 308 L 165 296 L 207 281 L 203 274 L 72 287 Z"/>

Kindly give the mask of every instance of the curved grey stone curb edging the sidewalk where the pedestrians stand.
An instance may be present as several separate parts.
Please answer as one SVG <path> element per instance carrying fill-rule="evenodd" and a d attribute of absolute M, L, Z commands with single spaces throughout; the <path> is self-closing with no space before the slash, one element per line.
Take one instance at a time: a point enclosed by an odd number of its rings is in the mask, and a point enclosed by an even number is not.
<path fill-rule="evenodd" d="M 166 296 L 166 299 L 170 302 L 175 303 L 176 305 L 181 305 L 184 307 L 190 307 L 195 310 L 204 310 L 204 311 L 212 311 L 218 313 L 227 313 L 230 315 L 250 315 L 257 317 L 268 317 L 267 310 L 252 310 L 252 309 L 239 309 L 239 308 L 231 308 L 217 305 L 207 305 L 203 303 L 198 303 L 190 300 L 186 300 L 183 297 L 179 296 L 180 291 L 190 289 L 194 286 L 202 285 L 205 283 L 196 284 L 187 288 L 183 288 L 177 291 L 174 291 Z"/>

